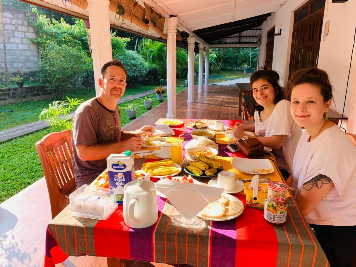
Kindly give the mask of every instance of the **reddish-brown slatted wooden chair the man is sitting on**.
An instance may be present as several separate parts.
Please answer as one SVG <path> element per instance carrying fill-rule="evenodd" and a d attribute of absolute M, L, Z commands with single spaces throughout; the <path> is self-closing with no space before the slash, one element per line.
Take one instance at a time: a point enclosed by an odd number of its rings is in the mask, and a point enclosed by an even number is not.
<path fill-rule="evenodd" d="M 77 185 L 72 164 L 72 132 L 52 132 L 36 143 L 47 183 L 52 219 L 68 204 Z"/>

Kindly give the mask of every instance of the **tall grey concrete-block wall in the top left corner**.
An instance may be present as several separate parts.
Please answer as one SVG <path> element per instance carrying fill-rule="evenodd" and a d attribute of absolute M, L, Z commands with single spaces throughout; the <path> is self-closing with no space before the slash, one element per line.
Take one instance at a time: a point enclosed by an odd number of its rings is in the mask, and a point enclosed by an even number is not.
<path fill-rule="evenodd" d="M 21 69 L 22 72 L 29 72 L 39 68 L 40 52 L 38 45 L 32 43 L 28 38 L 36 38 L 36 29 L 33 28 L 26 19 L 27 11 L 3 8 L 6 62 L 9 73 Z M 35 13 L 29 13 L 30 19 L 37 20 Z M 0 24 L 0 73 L 5 72 L 2 29 Z"/>

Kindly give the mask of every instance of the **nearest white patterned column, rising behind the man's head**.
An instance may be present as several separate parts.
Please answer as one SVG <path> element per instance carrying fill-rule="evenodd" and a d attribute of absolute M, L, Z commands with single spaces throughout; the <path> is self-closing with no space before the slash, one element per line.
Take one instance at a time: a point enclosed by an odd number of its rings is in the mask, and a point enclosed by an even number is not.
<path fill-rule="evenodd" d="M 109 0 L 87 0 L 90 22 L 91 57 L 93 58 L 95 93 L 99 95 L 100 70 L 112 60 Z"/>

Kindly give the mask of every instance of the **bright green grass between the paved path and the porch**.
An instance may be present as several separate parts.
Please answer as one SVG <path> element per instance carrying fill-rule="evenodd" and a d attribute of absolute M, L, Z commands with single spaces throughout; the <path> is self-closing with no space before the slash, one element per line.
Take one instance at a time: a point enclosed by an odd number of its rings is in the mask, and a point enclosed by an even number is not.
<path fill-rule="evenodd" d="M 177 93 L 184 88 L 185 87 L 177 87 Z M 163 100 L 167 100 L 167 95 Z M 138 103 L 143 106 L 143 101 L 139 99 L 130 102 Z M 161 103 L 155 98 L 152 107 L 154 108 L 159 104 Z M 126 105 L 127 102 L 119 105 L 121 112 L 121 126 L 130 122 L 124 109 L 124 106 Z M 137 117 L 145 112 L 147 112 L 147 110 L 143 106 L 142 109 L 137 112 Z M 58 129 L 47 128 L 0 143 L 0 203 L 43 177 L 42 167 L 40 159 L 38 158 L 35 143 L 47 133 L 53 131 L 58 131 Z"/>

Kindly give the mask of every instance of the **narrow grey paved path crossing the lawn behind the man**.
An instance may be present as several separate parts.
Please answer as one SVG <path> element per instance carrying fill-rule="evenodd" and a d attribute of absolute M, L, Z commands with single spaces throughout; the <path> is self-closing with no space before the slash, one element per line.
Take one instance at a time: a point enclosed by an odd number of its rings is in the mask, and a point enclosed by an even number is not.
<path fill-rule="evenodd" d="M 165 86 L 164 88 L 166 89 L 167 87 Z M 150 95 L 153 93 L 155 93 L 154 89 L 144 91 L 142 93 L 138 93 L 138 94 L 134 94 L 134 95 L 124 96 L 123 98 L 120 98 L 119 104 L 122 104 L 127 101 L 131 101 L 131 100 L 134 100 L 137 98 L 141 98 L 145 95 Z M 2 131 L 0 131 L 0 143 L 5 142 L 7 140 L 14 139 L 19 136 L 27 135 L 28 133 L 31 133 L 31 132 L 36 132 L 38 130 L 45 129 L 47 127 L 48 127 L 48 124 L 46 124 L 45 120 L 41 120 L 41 121 L 35 121 L 35 122 L 28 123 L 28 124 L 16 126 L 16 127 L 10 128 L 10 129 L 2 130 Z"/>

